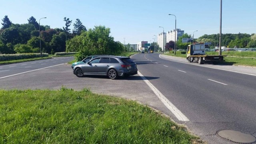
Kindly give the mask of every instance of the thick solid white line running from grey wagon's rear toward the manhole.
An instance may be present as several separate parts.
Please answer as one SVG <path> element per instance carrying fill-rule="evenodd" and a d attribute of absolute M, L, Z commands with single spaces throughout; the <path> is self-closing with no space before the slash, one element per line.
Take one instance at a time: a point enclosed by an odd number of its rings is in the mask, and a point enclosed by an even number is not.
<path fill-rule="evenodd" d="M 189 119 L 177 108 L 175 107 L 164 95 L 152 85 L 139 71 L 138 75 L 143 79 L 143 81 L 152 89 L 156 96 L 162 101 L 162 103 L 178 118 L 180 121 L 189 121 Z"/>

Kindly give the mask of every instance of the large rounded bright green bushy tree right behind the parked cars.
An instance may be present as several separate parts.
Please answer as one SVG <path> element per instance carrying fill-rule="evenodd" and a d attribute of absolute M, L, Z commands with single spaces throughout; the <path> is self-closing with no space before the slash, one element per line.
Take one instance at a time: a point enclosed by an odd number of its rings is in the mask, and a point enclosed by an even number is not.
<path fill-rule="evenodd" d="M 94 29 L 83 31 L 81 35 L 69 39 L 66 51 L 77 51 L 76 59 L 82 60 L 87 55 L 105 54 L 119 55 L 125 51 L 124 46 L 110 36 L 110 28 L 95 26 Z"/>

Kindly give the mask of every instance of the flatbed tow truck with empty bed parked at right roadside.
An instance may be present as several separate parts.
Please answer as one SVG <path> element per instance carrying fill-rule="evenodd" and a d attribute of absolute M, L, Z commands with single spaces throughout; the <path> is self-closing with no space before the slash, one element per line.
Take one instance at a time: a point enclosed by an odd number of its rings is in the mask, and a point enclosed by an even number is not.
<path fill-rule="evenodd" d="M 204 43 L 193 43 L 188 45 L 187 49 L 187 60 L 188 62 L 198 62 L 199 64 L 213 63 L 217 64 L 224 61 L 226 55 L 206 55 Z"/>

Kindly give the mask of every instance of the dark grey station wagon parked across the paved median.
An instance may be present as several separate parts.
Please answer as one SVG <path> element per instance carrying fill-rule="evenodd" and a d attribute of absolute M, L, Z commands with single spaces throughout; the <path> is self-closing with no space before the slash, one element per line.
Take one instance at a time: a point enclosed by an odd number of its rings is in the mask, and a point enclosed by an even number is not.
<path fill-rule="evenodd" d="M 110 79 L 128 77 L 138 73 L 137 65 L 130 57 L 99 56 L 87 63 L 75 65 L 73 73 L 77 77 L 84 75 L 107 75 Z"/>

